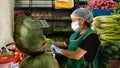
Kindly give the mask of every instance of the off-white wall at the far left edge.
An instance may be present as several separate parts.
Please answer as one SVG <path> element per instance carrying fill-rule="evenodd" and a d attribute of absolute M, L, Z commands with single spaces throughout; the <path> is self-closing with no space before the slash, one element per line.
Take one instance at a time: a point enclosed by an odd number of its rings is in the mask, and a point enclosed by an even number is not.
<path fill-rule="evenodd" d="M 0 48 L 13 40 L 14 0 L 0 0 Z"/>

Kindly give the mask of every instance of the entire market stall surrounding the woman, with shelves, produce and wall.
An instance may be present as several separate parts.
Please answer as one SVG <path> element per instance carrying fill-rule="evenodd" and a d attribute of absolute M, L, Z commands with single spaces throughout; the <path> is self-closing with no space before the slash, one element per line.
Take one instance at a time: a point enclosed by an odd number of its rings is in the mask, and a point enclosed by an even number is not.
<path fill-rule="evenodd" d="M 99 68 L 120 67 L 119 0 L 15 0 L 13 3 L 14 0 L 0 2 L 5 7 L 0 8 L 0 68 L 64 68 L 68 58 L 54 53 L 51 44 L 68 40 L 74 32 L 70 14 L 80 7 L 91 12 L 94 20 L 91 28 L 101 41 Z"/>

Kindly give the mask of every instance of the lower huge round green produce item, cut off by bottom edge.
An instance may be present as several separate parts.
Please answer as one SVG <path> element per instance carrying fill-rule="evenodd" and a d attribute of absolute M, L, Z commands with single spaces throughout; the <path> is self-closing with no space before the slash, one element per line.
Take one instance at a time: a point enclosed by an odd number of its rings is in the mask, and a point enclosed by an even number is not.
<path fill-rule="evenodd" d="M 51 54 L 43 53 L 26 57 L 20 64 L 20 68 L 59 68 L 59 65 Z"/>

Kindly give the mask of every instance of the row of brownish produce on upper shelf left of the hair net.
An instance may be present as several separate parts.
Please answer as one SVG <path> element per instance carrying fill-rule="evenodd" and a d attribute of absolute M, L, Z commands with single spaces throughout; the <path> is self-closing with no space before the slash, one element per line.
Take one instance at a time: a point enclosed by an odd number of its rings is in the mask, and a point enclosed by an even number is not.
<path fill-rule="evenodd" d="M 38 10 L 33 11 L 31 17 L 33 19 L 70 19 L 69 14 L 70 12 L 67 11 L 60 12 L 57 10 L 56 11 L 51 10 L 51 12 L 48 12 L 46 10 L 45 11 Z"/>

